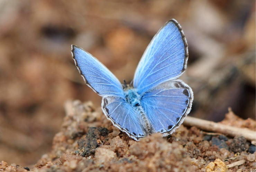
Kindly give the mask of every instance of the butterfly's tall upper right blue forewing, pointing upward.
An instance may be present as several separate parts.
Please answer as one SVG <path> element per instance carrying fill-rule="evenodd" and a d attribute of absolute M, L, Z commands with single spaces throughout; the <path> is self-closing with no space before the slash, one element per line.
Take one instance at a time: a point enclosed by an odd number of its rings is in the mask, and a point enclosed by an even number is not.
<path fill-rule="evenodd" d="M 172 19 L 157 32 L 144 52 L 134 75 L 139 94 L 170 79 L 186 69 L 188 43 L 180 24 Z"/>

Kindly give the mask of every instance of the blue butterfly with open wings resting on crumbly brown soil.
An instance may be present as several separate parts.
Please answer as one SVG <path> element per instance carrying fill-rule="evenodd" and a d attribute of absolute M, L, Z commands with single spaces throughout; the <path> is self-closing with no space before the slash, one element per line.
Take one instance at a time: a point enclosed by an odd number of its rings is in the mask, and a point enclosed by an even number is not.
<path fill-rule="evenodd" d="M 133 86 L 123 87 L 106 66 L 80 47 L 72 57 L 85 83 L 102 96 L 102 110 L 114 126 L 134 140 L 160 132 L 172 134 L 189 114 L 190 86 L 177 79 L 185 72 L 188 43 L 172 19 L 157 32 L 135 71 Z"/>

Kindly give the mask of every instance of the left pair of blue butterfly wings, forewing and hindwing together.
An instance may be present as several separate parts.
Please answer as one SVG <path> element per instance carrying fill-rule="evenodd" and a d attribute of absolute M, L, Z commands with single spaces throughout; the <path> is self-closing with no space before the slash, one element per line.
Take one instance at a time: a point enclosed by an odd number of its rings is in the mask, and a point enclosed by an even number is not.
<path fill-rule="evenodd" d="M 72 56 L 85 83 L 103 96 L 102 110 L 113 125 L 135 140 L 145 137 L 147 132 L 139 122 L 138 112 L 124 99 L 124 91 L 118 79 L 80 47 L 72 45 Z"/>

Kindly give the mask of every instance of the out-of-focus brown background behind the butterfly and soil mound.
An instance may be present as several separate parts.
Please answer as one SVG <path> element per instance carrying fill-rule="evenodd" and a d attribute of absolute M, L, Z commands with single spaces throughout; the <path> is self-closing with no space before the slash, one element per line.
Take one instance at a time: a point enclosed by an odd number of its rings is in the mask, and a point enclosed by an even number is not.
<path fill-rule="evenodd" d="M 71 44 L 122 81 L 169 19 L 189 44 L 181 77 L 194 91 L 190 115 L 221 121 L 228 107 L 255 119 L 255 1 L 0 1 L 0 161 L 35 164 L 51 150 L 67 99 L 101 97 L 86 86 Z"/>

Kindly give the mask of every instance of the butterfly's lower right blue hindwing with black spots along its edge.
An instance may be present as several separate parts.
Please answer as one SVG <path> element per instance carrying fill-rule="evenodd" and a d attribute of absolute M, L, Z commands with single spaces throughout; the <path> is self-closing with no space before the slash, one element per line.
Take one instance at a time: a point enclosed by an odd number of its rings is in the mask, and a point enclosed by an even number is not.
<path fill-rule="evenodd" d="M 150 132 L 173 133 L 189 114 L 192 101 L 192 89 L 182 80 L 170 80 L 146 92 L 141 106 L 151 123 Z"/>

